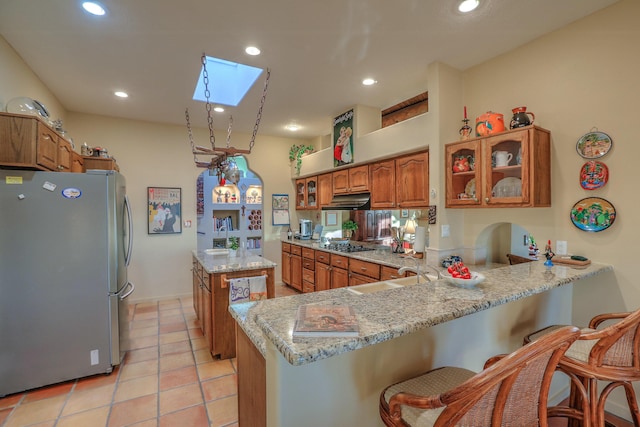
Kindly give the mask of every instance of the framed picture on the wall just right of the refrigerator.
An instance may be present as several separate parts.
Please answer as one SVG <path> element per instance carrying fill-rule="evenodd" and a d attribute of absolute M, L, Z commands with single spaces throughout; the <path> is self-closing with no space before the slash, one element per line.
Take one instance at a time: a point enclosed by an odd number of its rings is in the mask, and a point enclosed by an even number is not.
<path fill-rule="evenodd" d="M 182 189 L 147 187 L 149 234 L 182 233 Z"/>

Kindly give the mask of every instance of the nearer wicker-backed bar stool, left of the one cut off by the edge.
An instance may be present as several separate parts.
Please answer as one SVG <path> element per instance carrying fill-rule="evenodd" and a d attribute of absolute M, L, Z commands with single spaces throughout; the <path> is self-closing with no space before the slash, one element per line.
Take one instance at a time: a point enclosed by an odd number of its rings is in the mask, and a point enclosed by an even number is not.
<path fill-rule="evenodd" d="M 559 328 L 489 359 L 478 374 L 444 367 L 391 385 L 380 394 L 380 417 L 387 426 L 547 427 L 553 416 L 588 424 L 588 412 L 547 407 L 556 366 L 579 335 L 578 328 Z"/>

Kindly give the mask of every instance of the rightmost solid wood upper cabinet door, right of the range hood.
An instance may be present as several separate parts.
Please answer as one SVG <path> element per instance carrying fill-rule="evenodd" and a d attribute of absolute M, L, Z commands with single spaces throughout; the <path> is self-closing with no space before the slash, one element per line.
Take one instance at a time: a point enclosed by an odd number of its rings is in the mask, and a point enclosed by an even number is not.
<path fill-rule="evenodd" d="M 429 152 L 396 159 L 398 207 L 429 206 Z"/>

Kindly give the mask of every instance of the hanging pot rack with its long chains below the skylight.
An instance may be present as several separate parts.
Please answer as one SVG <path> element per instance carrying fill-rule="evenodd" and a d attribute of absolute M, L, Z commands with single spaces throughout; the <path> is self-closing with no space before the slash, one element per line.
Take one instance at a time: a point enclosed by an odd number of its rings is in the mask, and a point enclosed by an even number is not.
<path fill-rule="evenodd" d="M 269 77 L 271 76 L 271 70 L 267 68 L 267 76 L 264 81 L 264 88 L 262 90 L 262 98 L 260 99 L 260 108 L 258 108 L 258 114 L 256 116 L 256 123 L 253 125 L 253 133 L 251 134 L 251 140 L 249 141 L 249 149 L 239 149 L 231 146 L 231 131 L 233 128 L 233 116 L 229 116 L 229 126 L 227 128 L 227 146 L 225 148 L 216 147 L 216 137 L 213 131 L 213 116 L 211 115 L 211 92 L 209 91 L 209 72 L 207 71 L 207 56 L 203 53 L 201 57 L 202 63 L 202 80 L 204 82 L 204 96 L 206 99 L 207 110 L 207 125 L 209 128 L 209 142 L 211 148 L 195 145 L 193 141 L 193 132 L 191 131 L 191 120 L 189 117 L 189 109 L 185 110 L 185 118 L 187 120 L 187 131 L 189 133 L 189 143 L 191 144 L 191 151 L 193 152 L 193 161 L 199 168 L 209 169 L 210 175 L 216 175 L 218 181 L 222 185 L 226 181 L 233 184 L 237 184 L 240 178 L 240 171 L 238 166 L 233 161 L 233 157 L 238 154 L 251 154 L 251 150 L 256 143 L 256 135 L 258 134 L 258 127 L 260 126 L 260 120 L 262 119 L 262 109 L 264 102 L 267 99 L 267 88 L 269 87 Z M 198 156 L 206 155 L 212 156 L 211 160 L 201 161 Z"/>

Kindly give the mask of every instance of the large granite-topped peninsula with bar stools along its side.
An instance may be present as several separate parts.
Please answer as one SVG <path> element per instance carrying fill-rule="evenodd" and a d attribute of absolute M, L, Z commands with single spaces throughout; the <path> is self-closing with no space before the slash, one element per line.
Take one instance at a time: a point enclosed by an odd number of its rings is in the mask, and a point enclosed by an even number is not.
<path fill-rule="evenodd" d="M 475 288 L 440 280 L 234 305 L 240 425 L 382 425 L 378 398 L 385 386 L 437 366 L 480 370 L 488 357 L 522 345 L 527 333 L 570 323 L 573 286 L 612 269 L 547 268 L 538 261 L 486 270 Z M 360 335 L 294 340 L 297 307 L 313 303 L 352 305 Z M 248 388 L 245 379 L 260 375 L 264 385 Z"/>

